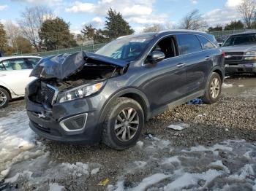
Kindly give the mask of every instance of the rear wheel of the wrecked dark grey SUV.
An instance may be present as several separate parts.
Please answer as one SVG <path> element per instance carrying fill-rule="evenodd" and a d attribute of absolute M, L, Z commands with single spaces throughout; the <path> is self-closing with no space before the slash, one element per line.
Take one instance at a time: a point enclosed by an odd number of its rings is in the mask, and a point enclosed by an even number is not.
<path fill-rule="evenodd" d="M 206 93 L 203 95 L 202 100 L 205 104 L 214 104 L 219 100 L 222 93 L 222 79 L 219 74 L 213 72 L 206 84 Z"/>

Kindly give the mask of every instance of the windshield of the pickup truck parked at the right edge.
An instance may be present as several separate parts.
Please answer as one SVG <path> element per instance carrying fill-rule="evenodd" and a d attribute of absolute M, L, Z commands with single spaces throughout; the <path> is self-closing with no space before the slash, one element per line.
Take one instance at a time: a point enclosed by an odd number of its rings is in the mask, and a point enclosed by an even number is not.
<path fill-rule="evenodd" d="M 235 46 L 240 44 L 256 44 L 255 34 L 241 34 L 230 36 L 222 47 Z"/>

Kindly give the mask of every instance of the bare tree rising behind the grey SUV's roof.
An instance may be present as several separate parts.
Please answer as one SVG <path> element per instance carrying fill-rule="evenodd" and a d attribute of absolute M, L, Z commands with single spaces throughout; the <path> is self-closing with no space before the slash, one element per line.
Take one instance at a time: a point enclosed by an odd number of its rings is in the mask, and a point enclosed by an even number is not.
<path fill-rule="evenodd" d="M 203 15 L 200 14 L 198 9 L 189 12 L 182 20 L 180 28 L 198 30 L 206 28 L 208 25 L 206 20 L 203 19 Z"/>

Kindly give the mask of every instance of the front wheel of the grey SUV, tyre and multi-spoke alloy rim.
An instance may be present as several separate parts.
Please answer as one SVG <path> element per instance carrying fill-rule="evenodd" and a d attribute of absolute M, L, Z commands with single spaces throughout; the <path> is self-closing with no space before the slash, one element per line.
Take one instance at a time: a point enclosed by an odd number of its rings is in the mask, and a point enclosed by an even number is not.
<path fill-rule="evenodd" d="M 131 98 L 117 98 L 108 108 L 104 114 L 102 142 L 117 150 L 135 145 L 144 126 L 140 104 Z"/>

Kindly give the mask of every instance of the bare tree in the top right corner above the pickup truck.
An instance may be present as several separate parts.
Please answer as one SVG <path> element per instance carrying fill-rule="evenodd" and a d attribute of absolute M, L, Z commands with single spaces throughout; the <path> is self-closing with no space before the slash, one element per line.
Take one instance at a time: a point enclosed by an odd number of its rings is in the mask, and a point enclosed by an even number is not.
<path fill-rule="evenodd" d="M 255 19 L 256 12 L 256 1 L 255 0 L 243 0 L 240 5 L 238 5 L 238 12 L 243 17 L 246 28 L 252 27 L 252 22 Z"/>

